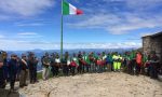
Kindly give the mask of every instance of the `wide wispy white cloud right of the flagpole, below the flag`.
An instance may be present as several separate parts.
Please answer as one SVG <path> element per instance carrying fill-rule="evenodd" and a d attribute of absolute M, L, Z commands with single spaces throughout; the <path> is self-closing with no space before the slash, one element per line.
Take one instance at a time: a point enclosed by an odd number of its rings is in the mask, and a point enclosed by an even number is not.
<path fill-rule="evenodd" d="M 143 28 L 161 27 L 161 16 L 162 14 L 141 16 L 140 13 L 107 13 L 91 15 L 91 18 L 85 17 L 81 22 L 68 23 L 67 25 L 76 28 L 100 28 L 112 34 L 123 34 Z"/>

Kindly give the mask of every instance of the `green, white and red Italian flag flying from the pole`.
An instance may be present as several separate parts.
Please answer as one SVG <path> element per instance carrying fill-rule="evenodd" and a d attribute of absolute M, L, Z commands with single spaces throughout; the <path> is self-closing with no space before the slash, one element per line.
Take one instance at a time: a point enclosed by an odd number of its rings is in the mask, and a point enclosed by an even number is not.
<path fill-rule="evenodd" d="M 83 12 L 79 9 L 77 9 L 76 6 L 73 6 L 72 4 L 66 2 L 63 0 L 63 15 L 80 15 L 83 14 Z"/>

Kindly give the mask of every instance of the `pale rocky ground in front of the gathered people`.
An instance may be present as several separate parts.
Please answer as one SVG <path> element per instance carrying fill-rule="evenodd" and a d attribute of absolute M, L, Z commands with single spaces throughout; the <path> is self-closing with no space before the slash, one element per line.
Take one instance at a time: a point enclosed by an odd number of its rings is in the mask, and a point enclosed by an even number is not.
<path fill-rule="evenodd" d="M 105 72 L 53 78 L 18 89 L 25 97 L 162 97 L 162 82 Z"/>

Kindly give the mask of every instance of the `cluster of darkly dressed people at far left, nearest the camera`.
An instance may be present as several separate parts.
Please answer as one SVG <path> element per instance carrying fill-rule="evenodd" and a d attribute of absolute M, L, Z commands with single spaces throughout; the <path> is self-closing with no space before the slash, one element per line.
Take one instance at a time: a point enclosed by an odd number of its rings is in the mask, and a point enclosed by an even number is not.
<path fill-rule="evenodd" d="M 8 53 L 0 52 L 0 88 L 5 88 L 6 83 L 10 83 L 11 91 L 14 91 L 16 81 L 19 81 L 19 87 L 27 86 L 28 74 L 30 83 L 37 82 L 37 65 L 38 59 L 33 53 L 22 54 L 18 57 L 16 54 L 11 54 L 8 58 Z"/>

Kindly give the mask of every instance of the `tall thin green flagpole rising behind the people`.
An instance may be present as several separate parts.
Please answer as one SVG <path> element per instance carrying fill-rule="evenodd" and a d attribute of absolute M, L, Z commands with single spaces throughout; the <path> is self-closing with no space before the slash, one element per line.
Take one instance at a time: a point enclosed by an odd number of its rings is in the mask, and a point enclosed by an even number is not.
<path fill-rule="evenodd" d="M 60 60 L 63 59 L 63 0 L 62 0 L 62 17 L 60 17 Z"/>

